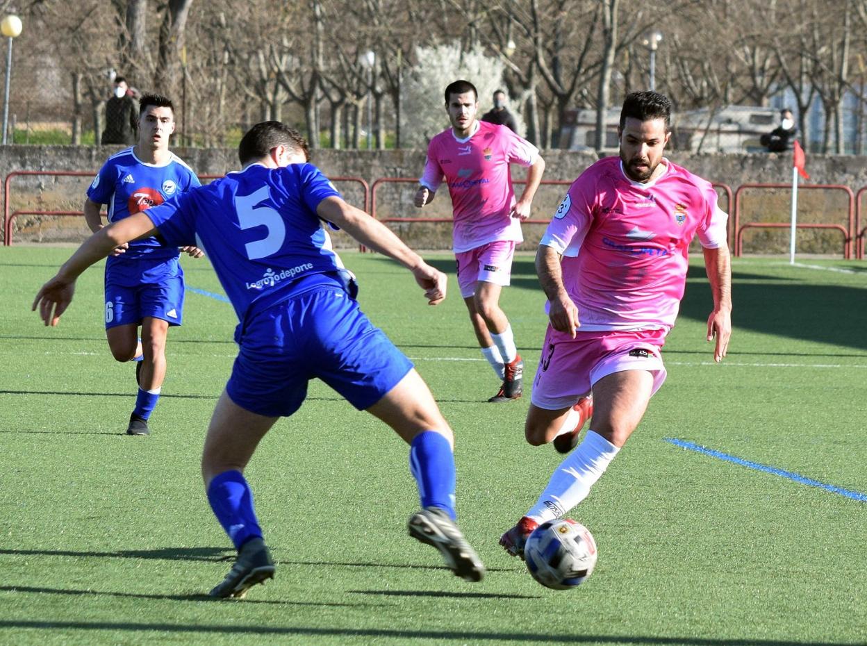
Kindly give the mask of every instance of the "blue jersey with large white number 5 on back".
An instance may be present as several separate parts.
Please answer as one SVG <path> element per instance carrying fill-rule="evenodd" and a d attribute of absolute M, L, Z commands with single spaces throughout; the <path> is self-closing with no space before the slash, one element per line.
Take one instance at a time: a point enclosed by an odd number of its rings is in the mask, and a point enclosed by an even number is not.
<path fill-rule="evenodd" d="M 340 193 L 312 164 L 252 164 L 153 207 L 147 217 L 166 243 L 205 250 L 243 322 L 316 284 L 299 284 L 301 278 L 342 270 L 316 215 L 332 196 Z"/>

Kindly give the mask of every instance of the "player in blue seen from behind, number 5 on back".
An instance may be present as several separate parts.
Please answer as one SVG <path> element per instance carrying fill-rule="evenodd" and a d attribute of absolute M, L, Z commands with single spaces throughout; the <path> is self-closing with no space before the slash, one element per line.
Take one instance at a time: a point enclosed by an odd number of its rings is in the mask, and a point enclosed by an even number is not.
<path fill-rule="evenodd" d="M 355 279 L 331 250 L 325 225 L 400 262 L 430 304 L 446 297 L 445 275 L 344 202 L 316 166 L 305 163 L 306 144 L 294 130 L 277 121 L 257 124 L 238 153 L 242 171 L 88 238 L 42 286 L 33 309 L 55 325 L 72 300 L 76 277 L 129 240 L 159 232 L 169 244 L 207 251 L 240 322 L 238 357 L 202 455 L 211 508 L 238 549 L 212 596 L 242 597 L 274 575 L 244 467 L 277 418 L 297 411 L 316 377 L 407 441 L 421 501 L 408 522 L 410 535 L 439 549 L 455 575 L 478 581 L 484 565 L 454 523 L 452 430 L 413 364 L 359 310 Z"/>

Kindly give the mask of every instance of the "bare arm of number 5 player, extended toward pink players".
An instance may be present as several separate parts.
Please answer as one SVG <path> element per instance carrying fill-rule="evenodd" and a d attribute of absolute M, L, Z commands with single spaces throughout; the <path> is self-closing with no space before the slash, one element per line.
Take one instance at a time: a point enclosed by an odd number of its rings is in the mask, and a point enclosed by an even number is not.
<path fill-rule="evenodd" d="M 446 297 L 446 275 L 427 264 L 380 221 L 337 197 L 323 199 L 316 207 L 316 214 L 339 226 L 362 245 L 394 258 L 412 271 L 415 282 L 425 290 L 425 297 L 431 305 L 440 303 Z"/>

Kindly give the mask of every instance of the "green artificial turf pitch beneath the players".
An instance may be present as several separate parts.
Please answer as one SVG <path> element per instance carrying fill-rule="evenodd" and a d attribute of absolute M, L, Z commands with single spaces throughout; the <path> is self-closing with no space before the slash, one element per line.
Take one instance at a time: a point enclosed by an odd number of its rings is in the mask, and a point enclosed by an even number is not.
<path fill-rule="evenodd" d="M 29 311 L 69 252 L 0 249 L 0 643 L 867 641 L 867 264 L 735 259 L 731 350 L 714 365 L 694 259 L 663 351 L 668 382 L 570 512 L 596 537 L 596 571 L 555 592 L 497 545 L 560 461 L 525 443 L 529 396 L 486 403 L 498 383 L 453 276 L 447 301 L 428 307 L 407 271 L 344 253 L 362 308 L 414 360 L 455 430 L 460 525 L 488 573 L 460 581 L 407 537 L 418 506 L 407 447 L 313 382 L 247 471 L 277 577 L 242 601 L 212 601 L 201 595 L 232 551 L 207 506 L 199 453 L 235 354 L 234 312 L 187 293 L 153 434 L 127 437 L 134 368 L 105 342 L 101 268 L 81 277 L 58 328 Z M 453 269 L 450 257 L 432 262 Z M 184 265 L 188 286 L 222 293 L 207 261 Z M 546 323 L 531 257 L 516 259 L 502 305 L 529 387 Z"/>

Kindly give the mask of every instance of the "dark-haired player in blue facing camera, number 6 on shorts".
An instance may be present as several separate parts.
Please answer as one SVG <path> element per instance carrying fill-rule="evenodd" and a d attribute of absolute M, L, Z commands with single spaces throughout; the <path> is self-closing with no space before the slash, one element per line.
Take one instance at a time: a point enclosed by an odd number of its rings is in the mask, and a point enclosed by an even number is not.
<path fill-rule="evenodd" d="M 196 173 L 168 149 L 174 125 L 172 101 L 160 95 L 141 97 L 139 142 L 109 157 L 88 188 L 84 218 L 91 231 L 102 228 L 102 205 L 108 205 L 108 222 L 117 222 L 200 186 Z M 195 246 L 184 251 L 194 258 L 203 255 Z M 182 322 L 184 271 L 178 258 L 178 247 L 151 237 L 120 245 L 106 261 L 108 347 L 117 361 L 138 362 L 130 435 L 150 432 L 147 420 L 166 377 L 168 329 Z"/>

